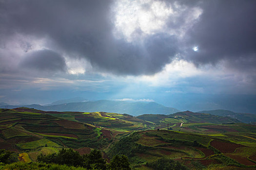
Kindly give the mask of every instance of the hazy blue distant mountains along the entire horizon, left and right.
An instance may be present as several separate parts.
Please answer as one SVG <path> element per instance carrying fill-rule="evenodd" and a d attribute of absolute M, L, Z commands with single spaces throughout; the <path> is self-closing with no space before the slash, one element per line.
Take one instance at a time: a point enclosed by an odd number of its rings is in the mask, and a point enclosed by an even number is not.
<path fill-rule="evenodd" d="M 132 116 L 139 116 L 143 114 L 158 114 L 150 119 L 164 119 L 164 115 L 170 115 L 180 110 L 172 107 L 166 107 L 156 102 L 127 102 L 127 101 L 86 101 L 84 98 L 72 98 L 67 100 L 56 101 L 47 105 L 31 104 L 31 105 L 7 105 L 5 102 L 0 102 L 0 108 L 17 108 L 29 107 L 45 111 L 73 111 L 73 112 L 112 112 L 120 114 L 129 114 Z M 249 113 L 235 113 L 230 110 L 204 110 L 197 113 L 206 113 L 222 117 L 229 117 L 237 119 L 241 122 L 250 123 L 256 122 L 256 114 Z M 160 114 L 160 115 L 159 115 Z M 191 112 L 192 114 L 192 112 Z M 161 116 L 162 115 L 162 116 Z M 189 113 L 187 114 L 189 115 Z M 192 114 L 195 115 L 195 114 Z M 159 118 L 157 118 L 159 117 Z M 173 117 L 173 116 L 171 116 Z"/>

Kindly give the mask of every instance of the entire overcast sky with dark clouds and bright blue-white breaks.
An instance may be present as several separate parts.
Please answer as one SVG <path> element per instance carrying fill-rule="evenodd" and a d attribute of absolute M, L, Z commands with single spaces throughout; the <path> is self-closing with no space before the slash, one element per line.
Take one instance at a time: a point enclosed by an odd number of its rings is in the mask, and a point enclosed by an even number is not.
<path fill-rule="evenodd" d="M 0 0 L 0 102 L 255 96 L 255 9 L 256 0 Z"/>

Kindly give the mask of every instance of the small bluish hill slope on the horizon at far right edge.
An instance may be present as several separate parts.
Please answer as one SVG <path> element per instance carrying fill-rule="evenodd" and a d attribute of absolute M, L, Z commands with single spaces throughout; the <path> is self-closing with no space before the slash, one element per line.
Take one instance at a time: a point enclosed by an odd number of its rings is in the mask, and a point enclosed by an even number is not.
<path fill-rule="evenodd" d="M 250 123 L 250 122 L 256 122 L 256 114 L 250 114 L 250 113 L 235 113 L 230 110 L 204 110 L 199 111 L 197 113 L 208 113 L 212 115 L 218 115 L 218 116 L 226 116 L 234 119 L 238 119 L 244 123 Z"/>

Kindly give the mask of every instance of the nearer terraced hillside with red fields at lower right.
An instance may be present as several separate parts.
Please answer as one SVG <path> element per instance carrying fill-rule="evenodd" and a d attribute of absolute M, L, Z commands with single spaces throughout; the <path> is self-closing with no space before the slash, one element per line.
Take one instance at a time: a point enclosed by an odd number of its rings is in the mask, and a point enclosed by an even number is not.
<path fill-rule="evenodd" d="M 122 138 L 107 153 L 110 156 L 124 154 L 132 165 L 140 165 L 141 170 L 148 170 L 148 162 L 162 157 L 166 161 L 179 161 L 192 170 L 256 168 L 255 147 L 240 144 L 239 137 L 233 142 L 229 141 L 229 136 L 221 137 L 163 130 L 141 131 Z M 246 139 L 243 141 L 246 143 Z"/>

